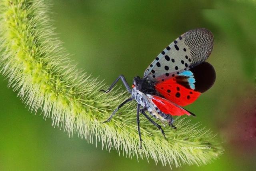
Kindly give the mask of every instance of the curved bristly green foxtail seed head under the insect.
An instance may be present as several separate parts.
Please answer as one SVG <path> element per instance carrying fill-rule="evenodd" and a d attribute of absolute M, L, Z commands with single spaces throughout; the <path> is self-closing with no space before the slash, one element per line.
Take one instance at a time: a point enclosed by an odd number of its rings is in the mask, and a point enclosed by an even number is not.
<path fill-rule="evenodd" d="M 222 153 L 210 130 L 184 118 L 176 119 L 177 130 L 164 128 L 164 139 L 161 131 L 141 117 L 140 149 L 135 103 L 102 123 L 128 94 L 99 92 L 108 86 L 70 65 L 67 52 L 54 37 L 46 4 L 43 0 L 0 2 L 1 73 L 31 111 L 40 110 L 53 126 L 71 136 L 77 133 L 89 143 L 100 141 L 102 148 L 116 149 L 130 158 L 152 158 L 180 167 L 207 164 Z"/>

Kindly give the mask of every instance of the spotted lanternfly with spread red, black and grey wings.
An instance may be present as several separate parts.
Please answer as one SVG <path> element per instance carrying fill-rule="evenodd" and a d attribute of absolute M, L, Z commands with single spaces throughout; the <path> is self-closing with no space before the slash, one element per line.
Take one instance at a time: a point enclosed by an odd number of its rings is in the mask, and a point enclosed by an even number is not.
<path fill-rule="evenodd" d="M 153 121 L 146 111 L 162 123 L 168 122 L 174 129 L 176 127 L 173 125 L 172 116 L 185 114 L 196 116 L 182 106 L 193 103 L 201 93 L 214 84 L 216 78 L 214 68 L 205 62 L 212 52 L 213 45 L 212 33 L 205 28 L 196 28 L 182 34 L 167 46 L 148 66 L 143 78 L 134 77 L 132 89 L 125 77 L 120 75 L 109 89 L 100 91 L 108 93 L 121 79 L 131 97 L 118 105 L 105 122 L 110 121 L 124 104 L 136 100 L 141 148 L 140 113 L 158 127 L 164 137 L 165 133 L 162 127 Z"/>

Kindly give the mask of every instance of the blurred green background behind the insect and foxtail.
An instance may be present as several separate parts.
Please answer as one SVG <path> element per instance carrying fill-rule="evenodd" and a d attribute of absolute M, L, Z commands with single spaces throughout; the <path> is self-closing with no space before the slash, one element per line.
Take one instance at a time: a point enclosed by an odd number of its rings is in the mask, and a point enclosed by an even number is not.
<path fill-rule="evenodd" d="M 224 154 L 206 166 L 174 170 L 255 170 L 256 3 L 255 1 L 54 0 L 51 17 L 78 68 L 107 84 L 120 74 L 131 84 L 180 34 L 208 28 L 215 46 L 208 59 L 214 86 L 186 107 L 193 122 L 218 133 Z M 119 157 L 69 138 L 51 120 L 30 113 L 0 76 L 0 170 L 170 170 L 154 161 Z M 135 117 L 135 115 L 134 115 Z"/>

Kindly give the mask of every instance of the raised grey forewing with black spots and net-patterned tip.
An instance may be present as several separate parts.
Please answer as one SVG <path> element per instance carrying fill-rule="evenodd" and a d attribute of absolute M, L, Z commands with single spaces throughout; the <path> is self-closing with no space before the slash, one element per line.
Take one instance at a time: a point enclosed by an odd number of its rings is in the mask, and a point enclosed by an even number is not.
<path fill-rule="evenodd" d="M 212 33 L 197 28 L 182 34 L 167 46 L 144 72 L 144 78 L 156 82 L 177 76 L 179 73 L 202 64 L 211 54 L 214 45 Z"/>

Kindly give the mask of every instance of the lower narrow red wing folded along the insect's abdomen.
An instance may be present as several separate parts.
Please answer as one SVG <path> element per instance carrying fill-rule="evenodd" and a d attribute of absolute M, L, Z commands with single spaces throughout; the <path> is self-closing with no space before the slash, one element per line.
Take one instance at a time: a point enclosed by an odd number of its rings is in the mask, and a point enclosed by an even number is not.
<path fill-rule="evenodd" d="M 182 107 L 172 103 L 171 101 L 164 99 L 156 95 L 147 95 L 150 97 L 152 103 L 160 109 L 166 115 L 180 116 L 180 115 L 194 115 L 193 113 L 183 109 Z M 195 116 L 195 115 L 194 115 Z"/>

